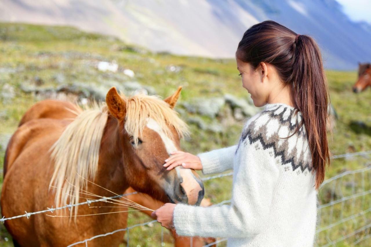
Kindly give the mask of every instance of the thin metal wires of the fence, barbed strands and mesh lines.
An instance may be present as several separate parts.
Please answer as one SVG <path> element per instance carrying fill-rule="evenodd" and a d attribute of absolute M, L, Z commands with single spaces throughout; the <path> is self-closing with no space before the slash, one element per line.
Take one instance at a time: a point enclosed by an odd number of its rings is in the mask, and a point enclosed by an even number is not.
<path fill-rule="evenodd" d="M 349 157 L 354 157 L 354 156 L 367 156 L 369 154 L 371 154 L 371 150 L 370 151 L 362 151 L 362 152 L 354 152 L 354 153 L 333 155 L 331 157 L 331 159 L 349 158 Z M 319 223 L 321 223 L 322 211 L 326 208 L 330 208 L 329 219 L 327 219 L 328 224 L 325 225 L 325 226 L 318 227 L 317 230 L 316 230 L 316 234 L 327 231 L 326 232 L 326 237 L 325 237 L 327 243 L 325 243 L 322 246 L 335 246 L 336 243 L 344 241 L 344 240 L 346 240 L 346 239 L 348 239 L 352 236 L 355 236 L 358 233 L 362 233 L 362 232 L 371 228 L 371 223 L 370 223 L 371 220 L 369 220 L 370 217 L 369 218 L 365 217 L 365 215 L 367 215 L 368 213 L 371 212 L 371 203 L 370 203 L 369 207 L 366 207 L 366 208 L 364 207 L 365 202 L 366 202 L 365 197 L 370 196 L 370 194 L 371 194 L 371 173 L 370 173 L 370 171 L 371 171 L 371 166 L 370 166 L 370 164 L 368 164 L 368 166 L 365 167 L 365 168 L 354 170 L 354 171 L 342 172 L 341 174 L 338 174 L 338 175 L 336 175 L 332 178 L 329 178 L 328 180 L 326 180 L 322 183 L 322 185 L 321 185 L 321 191 L 322 192 L 325 190 L 324 188 L 328 187 L 328 185 L 333 183 L 331 188 L 326 188 L 326 191 L 330 191 L 329 202 L 318 205 L 318 217 L 320 219 Z M 368 174 L 368 176 L 369 176 L 368 183 L 365 180 L 365 173 L 366 172 L 369 173 Z M 362 189 L 361 189 L 361 191 L 357 191 L 357 193 L 356 193 L 356 191 L 355 191 L 356 190 L 355 189 L 355 184 L 356 184 L 355 176 L 358 175 L 358 174 L 361 174 L 361 188 Z M 229 172 L 229 173 L 214 175 L 214 176 L 210 176 L 210 177 L 204 177 L 204 178 L 202 178 L 202 180 L 207 181 L 207 180 L 211 180 L 211 179 L 227 177 L 227 176 L 232 176 L 232 175 L 233 175 L 233 172 Z M 342 191 L 344 188 L 341 188 L 341 185 L 344 183 L 344 181 L 343 181 L 344 178 L 348 177 L 349 175 L 352 176 L 352 179 L 350 181 L 352 194 L 345 196 L 343 194 L 343 191 Z M 349 183 L 349 181 L 347 183 Z M 368 186 L 366 186 L 366 184 Z M 345 187 L 347 187 L 347 186 L 348 186 L 348 184 L 346 184 Z M 368 188 L 368 190 L 366 190 L 366 187 Z M 3 218 L 0 219 L 0 222 L 4 223 L 4 221 L 13 220 L 13 219 L 16 219 L 16 218 L 21 218 L 21 217 L 29 218 L 30 216 L 35 215 L 35 214 L 42 214 L 42 213 L 47 213 L 47 212 L 53 213 L 56 210 L 62 210 L 62 209 L 65 209 L 65 208 L 70 209 L 70 208 L 78 206 L 78 205 L 84 205 L 84 204 L 89 205 L 89 204 L 94 203 L 94 202 L 107 201 L 109 199 L 124 197 L 126 195 L 132 195 L 132 194 L 137 194 L 137 193 L 138 192 L 132 192 L 132 193 L 128 193 L 128 194 L 115 195 L 115 196 L 112 196 L 112 197 L 104 197 L 104 198 L 100 198 L 100 199 L 97 199 L 97 200 L 86 200 L 84 202 L 80 202 L 80 203 L 76 203 L 76 204 L 69 204 L 69 205 L 65 205 L 65 206 L 62 206 L 62 207 L 56 207 L 56 208 L 51 207 L 51 208 L 47 208 L 46 210 L 41 210 L 41 211 L 32 212 L 32 213 L 28 213 L 28 212 L 25 211 L 25 214 L 22 214 L 22 215 L 17 215 L 17 216 L 13 216 L 13 217 L 9 217 L 9 218 L 3 217 Z M 339 195 L 340 195 L 340 198 L 335 200 L 335 197 L 339 197 Z M 362 203 L 361 203 L 362 210 L 359 211 L 358 213 L 354 213 L 355 200 L 359 197 L 362 197 Z M 370 198 L 371 197 L 368 198 L 369 199 L 368 201 L 370 201 Z M 352 215 L 344 217 L 343 213 L 344 213 L 345 202 L 348 202 L 349 200 L 352 200 L 352 207 L 351 207 Z M 225 201 L 219 202 L 218 204 L 211 205 L 210 207 L 215 207 L 215 206 L 222 205 L 222 204 L 227 204 L 227 203 L 230 203 L 230 202 L 231 202 L 231 200 L 225 200 Z M 334 207 L 339 203 L 341 203 L 340 210 L 338 210 L 338 208 L 335 209 Z M 332 223 L 332 219 L 334 217 L 334 210 L 336 211 L 336 213 L 338 211 L 340 211 L 340 215 L 339 215 L 340 219 L 338 221 Z M 357 230 L 355 230 L 352 233 L 349 233 L 345 236 L 343 235 L 342 237 L 331 240 L 331 233 L 329 231 L 332 228 L 338 227 L 339 225 L 344 224 L 344 223 L 346 223 L 350 220 L 354 221 L 354 223 L 355 223 L 355 218 L 358 218 L 358 217 L 363 217 L 363 219 L 365 221 L 365 225 L 363 227 L 360 227 Z M 105 236 L 112 235 L 112 234 L 120 232 L 120 231 L 126 231 L 127 232 L 127 245 L 129 246 L 129 230 L 130 229 L 135 228 L 135 227 L 139 227 L 139 226 L 149 225 L 149 224 L 156 223 L 156 222 L 157 222 L 157 220 L 152 220 L 152 221 L 148 221 L 148 222 L 145 222 L 145 223 L 135 224 L 135 225 L 132 225 L 130 227 L 117 229 L 117 230 L 109 232 L 109 233 L 99 234 L 99 235 L 93 236 L 91 238 L 87 238 L 85 240 L 70 244 L 68 247 L 75 246 L 77 244 L 84 244 L 84 243 L 85 243 L 86 246 L 88 246 L 88 242 L 95 239 L 95 238 L 105 237 Z M 362 236 L 362 237 L 358 238 L 357 240 L 355 240 L 353 242 L 353 244 L 354 245 L 359 244 L 362 241 L 365 241 L 365 240 L 369 239 L 370 237 L 371 237 L 371 234 L 368 233 L 367 235 Z M 226 240 L 227 240 L 226 238 L 221 238 L 221 239 L 216 240 L 213 243 L 205 245 L 204 247 L 213 246 L 215 244 L 218 245 L 219 243 L 221 243 L 223 241 L 226 241 Z M 161 228 L 161 246 L 164 246 L 164 232 L 163 232 L 162 228 Z"/>

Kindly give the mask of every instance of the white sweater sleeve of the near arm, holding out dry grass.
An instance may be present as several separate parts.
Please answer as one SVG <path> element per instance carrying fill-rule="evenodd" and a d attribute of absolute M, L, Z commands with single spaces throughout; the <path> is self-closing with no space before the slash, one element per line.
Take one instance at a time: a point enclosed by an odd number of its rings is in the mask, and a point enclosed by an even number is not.
<path fill-rule="evenodd" d="M 267 222 L 279 169 L 275 158 L 260 142 L 246 138 L 235 166 L 231 205 L 197 207 L 177 204 L 173 224 L 180 236 L 248 237 Z M 259 144 L 258 144 L 259 143 Z"/>

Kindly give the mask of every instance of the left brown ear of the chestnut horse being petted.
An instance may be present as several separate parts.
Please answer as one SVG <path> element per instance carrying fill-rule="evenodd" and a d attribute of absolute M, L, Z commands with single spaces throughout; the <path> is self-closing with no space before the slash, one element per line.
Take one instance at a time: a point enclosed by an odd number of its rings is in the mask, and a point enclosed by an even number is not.
<path fill-rule="evenodd" d="M 112 116 L 118 120 L 124 120 L 126 115 L 126 102 L 118 94 L 115 87 L 109 89 L 106 95 L 106 104 Z"/>

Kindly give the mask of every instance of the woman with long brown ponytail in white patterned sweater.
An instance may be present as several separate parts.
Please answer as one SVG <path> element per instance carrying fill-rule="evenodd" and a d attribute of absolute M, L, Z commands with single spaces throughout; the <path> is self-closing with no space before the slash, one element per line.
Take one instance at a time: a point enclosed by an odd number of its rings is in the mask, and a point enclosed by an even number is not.
<path fill-rule="evenodd" d="M 167 203 L 152 215 L 179 235 L 227 237 L 228 246 L 313 246 L 316 190 L 329 164 L 319 48 L 265 21 L 244 33 L 236 60 L 243 87 L 264 110 L 247 120 L 238 145 L 198 156 L 176 151 L 164 164 L 203 174 L 233 169 L 231 205 Z"/>

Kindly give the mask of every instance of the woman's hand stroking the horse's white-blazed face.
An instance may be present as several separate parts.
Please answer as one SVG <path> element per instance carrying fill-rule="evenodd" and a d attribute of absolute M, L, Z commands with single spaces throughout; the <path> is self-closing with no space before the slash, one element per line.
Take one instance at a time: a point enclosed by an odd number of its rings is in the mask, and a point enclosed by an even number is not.
<path fill-rule="evenodd" d="M 166 159 L 165 162 L 164 167 L 167 167 L 167 170 L 171 170 L 178 165 L 184 168 L 202 170 L 201 160 L 198 156 L 182 151 L 172 152 L 170 158 Z"/>

